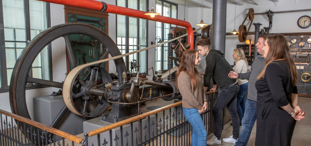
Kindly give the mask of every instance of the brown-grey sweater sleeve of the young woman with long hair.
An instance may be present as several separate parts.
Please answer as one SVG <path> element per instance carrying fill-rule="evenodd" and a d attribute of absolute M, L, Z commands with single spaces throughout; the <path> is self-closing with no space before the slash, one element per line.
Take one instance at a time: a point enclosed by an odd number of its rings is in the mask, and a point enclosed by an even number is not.
<path fill-rule="evenodd" d="M 178 89 L 180 94 L 183 96 L 183 100 L 185 100 L 190 106 L 195 107 L 197 110 L 200 110 L 202 107 L 199 101 L 197 101 L 197 99 L 192 94 L 190 76 L 184 72 L 181 72 L 177 80 Z"/>

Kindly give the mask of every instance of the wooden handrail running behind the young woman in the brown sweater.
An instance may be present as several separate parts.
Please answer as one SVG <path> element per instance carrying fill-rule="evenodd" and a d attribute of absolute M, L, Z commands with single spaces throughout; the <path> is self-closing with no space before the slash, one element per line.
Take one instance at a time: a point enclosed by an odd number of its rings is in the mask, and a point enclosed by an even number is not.
<path fill-rule="evenodd" d="M 217 90 L 215 92 L 210 91 L 210 92 L 207 92 L 206 95 L 213 94 L 213 93 L 216 93 L 216 92 L 217 92 Z M 161 107 L 161 108 L 158 108 L 156 110 L 153 110 L 153 111 L 150 111 L 150 112 L 146 112 L 146 113 L 143 113 L 141 115 L 134 116 L 134 117 L 131 117 L 129 119 L 126 119 L 126 120 L 123 120 L 123 121 L 120 121 L 120 122 L 117 122 L 117 123 L 114 123 L 114 124 L 111 124 L 111 125 L 108 125 L 108 126 L 105 126 L 105 127 L 102 127 L 102 128 L 90 131 L 90 132 L 87 132 L 86 134 L 88 134 L 89 137 L 94 136 L 94 135 L 98 135 L 100 133 L 106 132 L 108 130 L 112 130 L 112 129 L 120 127 L 122 125 L 126 125 L 126 124 L 129 124 L 129 123 L 138 121 L 138 120 L 143 119 L 143 118 L 145 118 L 147 116 L 151 116 L 153 114 L 156 114 L 156 113 L 159 113 L 159 112 L 163 112 L 163 111 L 165 111 L 167 109 L 179 106 L 181 104 L 182 104 L 182 101 L 177 102 L 177 103 L 173 103 L 173 104 L 167 105 L 165 107 Z"/>

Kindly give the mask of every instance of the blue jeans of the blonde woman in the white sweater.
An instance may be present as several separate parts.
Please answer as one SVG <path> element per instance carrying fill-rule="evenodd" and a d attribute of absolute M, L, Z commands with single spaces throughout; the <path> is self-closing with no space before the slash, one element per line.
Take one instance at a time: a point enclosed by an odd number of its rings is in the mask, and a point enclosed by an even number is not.
<path fill-rule="evenodd" d="M 248 91 L 248 82 L 245 84 L 241 84 L 239 86 L 240 86 L 240 90 L 238 94 L 236 94 L 236 100 L 237 100 L 236 108 L 238 109 L 240 122 L 242 122 L 242 118 L 243 118 L 244 111 L 245 111 L 245 97 Z"/>

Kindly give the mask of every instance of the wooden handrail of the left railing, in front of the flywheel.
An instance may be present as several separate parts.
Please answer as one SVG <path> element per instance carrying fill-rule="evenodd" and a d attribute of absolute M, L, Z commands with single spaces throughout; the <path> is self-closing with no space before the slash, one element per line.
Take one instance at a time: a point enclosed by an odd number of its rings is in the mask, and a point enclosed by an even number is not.
<path fill-rule="evenodd" d="M 55 135 L 61 136 L 61 137 L 65 138 L 65 139 L 71 140 L 71 141 L 76 142 L 78 144 L 80 144 L 82 142 L 82 140 L 84 140 L 84 139 L 81 139 L 81 138 L 79 138 L 79 137 L 77 137 L 75 135 L 71 135 L 69 133 L 63 132 L 63 131 L 55 129 L 53 127 L 41 124 L 41 123 L 36 122 L 36 121 L 32 121 L 30 119 L 27 119 L 27 118 L 22 117 L 22 116 L 18 116 L 16 114 L 13 114 L 13 113 L 10 113 L 10 112 L 7 112 L 7 111 L 3 111 L 2 109 L 0 109 L 0 113 L 3 114 L 3 115 L 6 115 L 6 116 L 12 117 L 12 118 L 14 118 L 14 119 L 16 119 L 18 121 L 22 121 L 22 122 L 25 122 L 25 123 L 27 123 L 29 125 L 33 125 L 35 127 L 43 129 L 45 131 L 49 131 L 49 132 L 51 132 L 51 133 L 53 133 Z"/>

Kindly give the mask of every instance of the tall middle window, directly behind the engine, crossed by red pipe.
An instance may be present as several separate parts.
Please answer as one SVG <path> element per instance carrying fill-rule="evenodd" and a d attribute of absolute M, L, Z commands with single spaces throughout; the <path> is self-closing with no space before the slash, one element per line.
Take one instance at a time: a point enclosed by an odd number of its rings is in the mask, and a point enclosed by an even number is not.
<path fill-rule="evenodd" d="M 116 0 L 117 6 L 147 11 L 149 5 L 146 0 Z M 122 54 L 147 47 L 148 21 L 145 19 L 117 15 L 117 45 Z M 130 62 L 137 60 L 137 71 L 145 72 L 147 68 L 147 51 L 142 51 L 123 57 L 127 70 Z"/>

